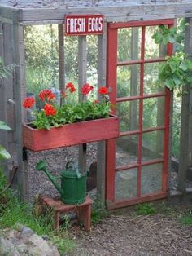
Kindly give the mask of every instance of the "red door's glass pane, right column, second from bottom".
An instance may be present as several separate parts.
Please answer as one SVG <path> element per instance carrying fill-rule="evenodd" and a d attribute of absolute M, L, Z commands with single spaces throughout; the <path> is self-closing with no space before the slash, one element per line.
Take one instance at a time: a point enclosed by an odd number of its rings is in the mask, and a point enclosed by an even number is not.
<path fill-rule="evenodd" d="M 164 130 L 142 134 L 142 161 L 163 158 Z"/>

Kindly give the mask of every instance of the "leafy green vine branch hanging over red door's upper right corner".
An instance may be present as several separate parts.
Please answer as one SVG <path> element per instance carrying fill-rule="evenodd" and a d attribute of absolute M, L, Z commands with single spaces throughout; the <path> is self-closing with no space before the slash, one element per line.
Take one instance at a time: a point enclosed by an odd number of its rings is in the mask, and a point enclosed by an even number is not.
<path fill-rule="evenodd" d="M 183 51 L 183 40 L 185 26 L 184 20 L 181 20 L 179 26 L 168 27 L 161 25 L 153 34 L 155 43 L 168 44 L 175 43 L 176 52 L 172 56 L 167 56 L 167 61 L 159 65 L 159 83 L 167 86 L 170 90 L 178 89 L 177 96 L 181 95 L 181 87 L 192 82 L 192 60 L 189 55 Z"/>

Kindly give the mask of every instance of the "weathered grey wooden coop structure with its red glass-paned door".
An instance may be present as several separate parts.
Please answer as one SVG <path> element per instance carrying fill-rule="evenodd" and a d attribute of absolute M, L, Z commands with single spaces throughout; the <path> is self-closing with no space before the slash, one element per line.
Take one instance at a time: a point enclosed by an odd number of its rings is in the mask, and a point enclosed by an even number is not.
<path fill-rule="evenodd" d="M 65 83 L 65 52 L 63 38 L 66 15 L 81 17 L 103 15 L 103 32 L 98 38 L 98 86 L 111 87 L 111 103 L 116 105 L 114 113 L 120 117 L 118 139 L 98 143 L 98 194 L 108 209 L 151 201 L 168 196 L 168 174 L 170 170 L 172 92 L 168 89 L 146 90 L 147 75 L 166 55 L 172 55 L 168 44 L 164 53 L 152 46 L 147 37 L 151 27 L 164 24 L 172 27 L 177 18 L 186 18 L 190 24 L 185 29 L 185 51 L 192 51 L 192 1 L 190 0 L 1 0 L 0 2 L 0 55 L 5 64 L 14 64 L 12 77 L 0 84 L 0 120 L 6 121 L 12 131 L 0 133 L 0 143 L 7 148 L 14 161 L 5 163 L 7 170 L 18 167 L 17 185 L 25 199 L 28 198 L 28 150 L 23 148 L 22 123 L 26 113 L 22 101 L 26 95 L 24 26 L 57 24 L 59 41 L 59 88 Z M 130 55 L 120 57 L 120 31 L 130 31 Z M 78 34 L 77 34 L 78 35 Z M 70 36 L 70 35 L 67 35 Z M 154 46 L 155 47 L 155 46 Z M 86 34 L 78 35 L 78 84 L 86 82 Z M 124 68 L 129 73 L 129 90 L 119 90 L 118 73 Z M 126 82 L 125 82 L 126 83 Z M 147 126 L 146 104 L 155 104 L 156 123 Z M 129 117 L 120 112 L 123 106 Z M 183 96 L 181 117 L 181 154 L 179 189 L 185 192 L 186 171 L 191 166 L 192 148 L 190 91 Z M 123 111 L 123 112 L 124 112 Z M 125 118 L 125 119 L 124 119 Z M 127 119 L 126 119 L 127 118 Z M 124 121 L 125 120 L 125 121 Z M 127 121 L 127 126 L 126 126 Z M 155 145 L 146 147 L 155 136 Z M 145 142 L 145 143 L 144 143 Z M 128 149 L 127 149 L 128 148 Z M 131 151 L 130 151 L 131 148 Z M 124 152 L 129 152 L 125 154 Z M 79 155 L 85 161 L 85 152 L 79 147 Z M 120 158 L 121 157 L 121 158 Z M 121 161 L 124 158 L 124 161 Z M 8 176 L 8 174 L 7 174 Z M 119 184 L 119 185 L 118 185 Z"/>

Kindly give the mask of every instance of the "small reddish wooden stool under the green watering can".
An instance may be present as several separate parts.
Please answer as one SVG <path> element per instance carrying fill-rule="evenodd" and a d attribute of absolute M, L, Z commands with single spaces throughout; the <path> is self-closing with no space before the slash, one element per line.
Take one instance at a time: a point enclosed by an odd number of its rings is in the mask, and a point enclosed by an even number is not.
<path fill-rule="evenodd" d="M 59 230 L 60 214 L 67 213 L 72 210 L 73 212 L 76 212 L 78 221 L 83 223 L 85 231 L 89 232 L 92 204 L 89 196 L 86 196 L 85 202 L 79 205 L 65 205 L 58 198 L 51 198 L 48 196 L 41 196 L 41 202 L 55 211 L 55 229 L 57 231 Z"/>

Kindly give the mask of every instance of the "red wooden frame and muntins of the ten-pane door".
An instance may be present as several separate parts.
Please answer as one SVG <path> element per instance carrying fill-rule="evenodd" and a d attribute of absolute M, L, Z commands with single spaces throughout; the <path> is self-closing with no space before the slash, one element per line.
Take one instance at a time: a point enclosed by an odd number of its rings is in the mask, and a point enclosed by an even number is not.
<path fill-rule="evenodd" d="M 152 201 L 160 198 L 164 198 L 168 194 L 168 141 L 169 141 L 169 111 L 170 111 L 170 91 L 165 89 L 163 92 L 157 92 L 151 95 L 143 95 L 143 77 L 144 77 L 144 64 L 155 63 L 164 61 L 165 58 L 158 58 L 153 60 L 145 60 L 145 33 L 146 26 L 155 25 L 168 25 L 172 27 L 174 20 L 146 20 L 146 21 L 133 21 L 127 23 L 111 23 L 107 27 L 107 85 L 112 88 L 111 91 L 111 104 L 116 105 L 118 102 L 124 102 L 124 100 L 139 100 L 139 128 L 138 130 L 131 130 L 127 132 L 121 132 L 120 135 L 138 135 L 138 161 L 136 165 L 125 166 L 122 170 L 128 170 L 131 168 L 137 168 L 137 196 L 129 198 L 127 200 L 116 201 L 115 198 L 115 179 L 116 179 L 116 139 L 107 140 L 107 166 L 106 166 L 106 203 L 108 209 L 115 209 L 119 207 L 124 207 L 126 205 L 133 205 L 144 201 Z M 117 60 L 117 32 L 121 28 L 131 28 L 131 27 L 141 27 L 142 28 L 142 43 L 141 43 L 141 60 L 130 60 L 127 62 L 118 63 Z M 172 44 L 168 43 L 167 55 L 172 55 Z M 116 81 L 117 72 L 116 69 L 120 65 L 128 64 L 140 64 L 140 94 L 137 96 L 130 96 L 117 99 L 116 91 Z M 142 113 L 143 113 L 143 99 L 164 96 L 164 126 L 158 126 L 155 128 L 142 128 Z M 116 114 L 116 108 L 113 109 L 114 114 Z M 164 130 L 164 153 L 162 159 L 155 159 L 155 161 L 147 161 L 142 163 L 142 134 L 144 132 L 154 131 L 154 130 Z M 166 145 L 166 146 L 165 146 Z M 141 176 L 142 176 L 142 166 L 147 166 L 150 164 L 162 163 L 162 191 L 147 194 L 142 196 L 141 193 Z M 121 170 L 120 168 L 117 168 Z"/>

